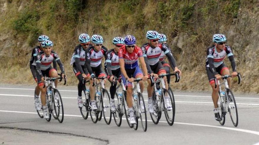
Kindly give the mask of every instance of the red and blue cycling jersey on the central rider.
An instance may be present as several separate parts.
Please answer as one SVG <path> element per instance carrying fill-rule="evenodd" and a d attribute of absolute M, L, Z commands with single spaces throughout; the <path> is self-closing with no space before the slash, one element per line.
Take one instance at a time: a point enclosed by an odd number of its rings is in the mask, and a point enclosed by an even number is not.
<path fill-rule="evenodd" d="M 132 53 L 127 51 L 126 46 L 122 46 L 119 49 L 119 59 L 124 59 L 125 69 L 134 69 L 138 66 L 138 58 L 143 57 L 143 53 L 140 47 L 135 46 Z"/>

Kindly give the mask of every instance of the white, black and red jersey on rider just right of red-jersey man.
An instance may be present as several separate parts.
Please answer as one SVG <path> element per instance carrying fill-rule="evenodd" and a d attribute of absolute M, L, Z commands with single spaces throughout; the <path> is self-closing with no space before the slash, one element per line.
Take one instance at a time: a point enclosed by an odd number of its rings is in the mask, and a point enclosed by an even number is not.
<path fill-rule="evenodd" d="M 165 44 L 158 44 L 157 47 L 153 48 L 149 43 L 146 43 L 141 47 L 141 50 L 143 51 L 143 56 L 147 57 L 149 65 L 155 65 L 159 62 L 162 51 L 165 54 L 170 52 L 170 48 Z"/>

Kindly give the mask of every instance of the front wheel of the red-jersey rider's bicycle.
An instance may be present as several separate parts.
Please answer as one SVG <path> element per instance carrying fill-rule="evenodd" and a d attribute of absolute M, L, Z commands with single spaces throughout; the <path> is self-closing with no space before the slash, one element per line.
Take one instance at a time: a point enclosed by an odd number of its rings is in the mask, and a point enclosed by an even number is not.
<path fill-rule="evenodd" d="M 147 131 L 147 112 L 145 107 L 145 101 L 142 93 L 139 93 L 138 96 L 139 96 L 140 121 L 141 121 L 142 129 L 144 130 L 144 132 L 146 132 Z"/>

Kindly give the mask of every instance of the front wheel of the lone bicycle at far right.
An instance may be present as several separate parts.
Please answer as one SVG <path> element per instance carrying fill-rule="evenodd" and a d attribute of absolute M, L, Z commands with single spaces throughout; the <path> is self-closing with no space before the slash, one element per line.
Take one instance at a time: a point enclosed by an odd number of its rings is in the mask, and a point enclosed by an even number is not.
<path fill-rule="evenodd" d="M 230 89 L 227 89 L 226 96 L 228 97 L 228 112 L 232 123 L 235 127 L 238 126 L 238 108 L 235 97 Z"/>

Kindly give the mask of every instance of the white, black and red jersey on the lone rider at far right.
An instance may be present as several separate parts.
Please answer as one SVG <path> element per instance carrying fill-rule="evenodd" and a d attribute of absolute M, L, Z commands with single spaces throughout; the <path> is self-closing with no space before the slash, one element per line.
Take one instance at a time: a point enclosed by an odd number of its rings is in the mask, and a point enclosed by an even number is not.
<path fill-rule="evenodd" d="M 215 45 L 209 47 L 207 49 L 206 67 L 209 67 L 210 71 L 212 71 L 212 73 L 216 75 L 217 71 L 215 68 L 223 64 L 223 60 L 226 56 L 229 58 L 231 62 L 233 71 L 236 71 L 234 55 L 232 53 L 231 47 L 228 45 L 226 45 L 224 50 L 222 50 L 221 52 L 217 52 Z"/>

